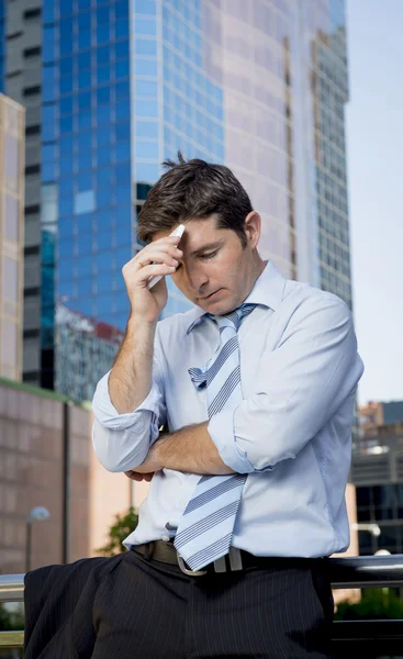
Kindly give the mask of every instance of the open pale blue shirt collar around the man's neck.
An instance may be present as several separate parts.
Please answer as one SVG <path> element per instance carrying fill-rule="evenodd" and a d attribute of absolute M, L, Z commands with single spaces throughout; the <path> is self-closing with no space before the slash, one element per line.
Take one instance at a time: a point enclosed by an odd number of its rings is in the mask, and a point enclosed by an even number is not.
<path fill-rule="evenodd" d="M 254 288 L 246 300 L 244 300 L 243 304 L 259 304 L 276 311 L 282 300 L 287 280 L 280 275 L 275 264 L 271 261 L 265 263 L 265 270 L 257 278 Z M 187 315 L 190 321 L 187 334 L 190 334 L 190 332 L 208 315 L 208 312 L 200 306 L 193 306 Z"/>

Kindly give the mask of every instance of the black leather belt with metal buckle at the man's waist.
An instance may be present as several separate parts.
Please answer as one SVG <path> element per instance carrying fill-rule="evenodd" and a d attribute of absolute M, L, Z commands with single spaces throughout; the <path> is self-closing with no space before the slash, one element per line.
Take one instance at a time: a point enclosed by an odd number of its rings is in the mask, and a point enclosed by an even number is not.
<path fill-rule="evenodd" d="M 179 567 L 184 574 L 190 577 L 201 577 L 202 574 L 220 573 L 228 571 L 246 570 L 247 568 L 313 568 L 314 565 L 324 567 L 323 558 L 294 558 L 294 557 L 271 557 L 254 556 L 244 549 L 230 548 L 230 554 L 223 556 L 213 563 L 205 566 L 202 570 L 192 571 L 178 555 L 173 547 L 173 541 L 154 540 L 145 545 L 133 545 L 133 551 L 142 554 L 147 560 L 157 560 L 163 563 Z"/>

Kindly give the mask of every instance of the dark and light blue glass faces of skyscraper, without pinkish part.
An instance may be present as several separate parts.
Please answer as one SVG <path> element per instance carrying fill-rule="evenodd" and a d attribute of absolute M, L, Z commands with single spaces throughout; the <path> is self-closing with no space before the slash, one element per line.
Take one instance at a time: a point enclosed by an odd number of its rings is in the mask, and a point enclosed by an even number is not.
<path fill-rule="evenodd" d="M 223 91 L 203 70 L 200 1 L 45 0 L 43 48 L 43 367 L 88 399 L 127 320 L 132 203 L 178 149 L 224 161 Z M 164 315 L 189 306 L 168 286 Z"/>

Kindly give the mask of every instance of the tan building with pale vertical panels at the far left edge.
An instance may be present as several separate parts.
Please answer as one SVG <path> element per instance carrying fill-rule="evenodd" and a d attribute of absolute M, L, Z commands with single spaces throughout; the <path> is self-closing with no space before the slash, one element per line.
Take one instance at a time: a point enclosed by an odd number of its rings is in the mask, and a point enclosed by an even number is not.
<path fill-rule="evenodd" d="M 22 378 L 24 108 L 0 93 L 0 377 Z"/>

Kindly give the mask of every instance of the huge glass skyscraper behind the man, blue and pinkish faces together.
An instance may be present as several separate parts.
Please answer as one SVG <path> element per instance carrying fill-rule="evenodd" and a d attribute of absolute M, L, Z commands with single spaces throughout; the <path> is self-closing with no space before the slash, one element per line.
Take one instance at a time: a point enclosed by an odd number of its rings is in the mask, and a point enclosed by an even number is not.
<path fill-rule="evenodd" d="M 5 15 L 0 64 L 0 75 L 16 76 L 16 42 L 41 71 L 14 91 L 41 110 L 31 137 L 40 171 L 29 170 L 40 177 L 37 199 L 25 199 L 25 221 L 36 213 L 41 235 L 32 291 L 38 334 L 25 325 L 26 381 L 92 396 L 125 328 L 121 269 L 142 248 L 138 211 L 160 163 L 178 149 L 233 169 L 261 213 L 262 257 L 351 303 L 344 0 L 33 4 L 12 15 L 14 27 Z M 15 36 L 18 21 L 24 38 L 36 30 L 37 43 Z M 169 291 L 164 315 L 186 310 L 171 283 Z"/>

